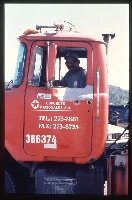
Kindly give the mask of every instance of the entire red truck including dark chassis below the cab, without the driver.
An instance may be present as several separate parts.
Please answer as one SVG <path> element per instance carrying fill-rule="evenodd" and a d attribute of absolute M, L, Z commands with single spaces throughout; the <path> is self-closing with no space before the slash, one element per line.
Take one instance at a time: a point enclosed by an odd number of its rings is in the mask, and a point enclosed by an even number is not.
<path fill-rule="evenodd" d="M 36 25 L 18 37 L 5 87 L 5 194 L 128 194 L 128 140 L 108 138 L 108 43 L 75 26 Z M 54 85 L 76 53 L 86 87 Z M 78 80 L 76 80 L 78 81 Z M 107 143 L 109 139 L 109 143 Z"/>

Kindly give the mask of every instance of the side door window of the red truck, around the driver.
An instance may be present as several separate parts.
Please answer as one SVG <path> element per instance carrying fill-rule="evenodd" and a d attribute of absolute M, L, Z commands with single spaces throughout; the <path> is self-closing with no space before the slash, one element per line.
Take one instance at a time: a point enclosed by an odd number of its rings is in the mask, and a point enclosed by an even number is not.
<path fill-rule="evenodd" d="M 55 66 L 53 67 L 53 77 L 50 80 L 52 83 L 54 80 L 61 80 L 68 72 L 64 59 L 68 52 L 76 53 L 79 57 L 80 64 L 87 73 L 87 50 L 85 48 L 74 47 L 57 47 Z M 51 57 L 49 59 L 52 59 Z M 46 87 L 46 69 L 47 69 L 47 46 L 35 46 L 30 61 L 28 84 L 35 87 Z M 48 66 L 48 69 L 51 66 Z M 51 68 L 50 68 L 51 70 Z M 53 87 L 51 84 L 50 86 Z M 54 86 L 56 87 L 56 86 Z"/>

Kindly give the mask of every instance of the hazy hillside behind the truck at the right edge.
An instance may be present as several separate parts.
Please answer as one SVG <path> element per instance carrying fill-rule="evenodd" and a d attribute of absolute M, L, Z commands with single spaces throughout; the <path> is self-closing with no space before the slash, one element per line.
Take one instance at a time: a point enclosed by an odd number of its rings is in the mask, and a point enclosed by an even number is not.
<path fill-rule="evenodd" d="M 129 101 L 129 90 L 109 85 L 109 104 L 125 105 Z"/>

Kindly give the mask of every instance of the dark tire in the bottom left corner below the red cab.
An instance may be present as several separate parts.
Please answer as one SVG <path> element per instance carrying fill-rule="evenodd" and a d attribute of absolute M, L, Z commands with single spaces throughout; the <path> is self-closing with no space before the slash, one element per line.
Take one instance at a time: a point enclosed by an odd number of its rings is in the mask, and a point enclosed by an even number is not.
<path fill-rule="evenodd" d="M 5 193 L 17 193 L 15 179 L 7 168 L 5 169 Z"/>

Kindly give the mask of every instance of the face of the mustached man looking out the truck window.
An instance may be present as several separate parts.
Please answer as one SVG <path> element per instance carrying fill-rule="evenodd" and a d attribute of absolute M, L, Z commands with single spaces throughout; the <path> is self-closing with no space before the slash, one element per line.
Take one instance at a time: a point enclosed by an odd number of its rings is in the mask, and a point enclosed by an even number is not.
<path fill-rule="evenodd" d="M 73 57 L 67 57 L 65 64 L 67 68 L 69 69 L 69 71 L 74 71 L 79 68 L 79 60 Z"/>

